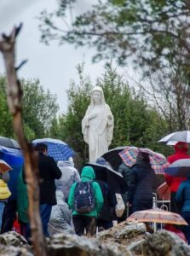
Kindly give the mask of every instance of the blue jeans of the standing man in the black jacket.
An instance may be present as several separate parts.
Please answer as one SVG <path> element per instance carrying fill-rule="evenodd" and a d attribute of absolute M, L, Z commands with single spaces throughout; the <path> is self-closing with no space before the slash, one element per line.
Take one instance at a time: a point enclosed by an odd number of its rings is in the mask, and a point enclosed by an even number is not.
<path fill-rule="evenodd" d="M 40 217 L 43 224 L 43 235 L 49 236 L 48 232 L 48 224 L 49 224 L 49 218 L 51 214 L 52 206 L 48 204 L 40 205 L 39 211 L 40 211 Z"/>

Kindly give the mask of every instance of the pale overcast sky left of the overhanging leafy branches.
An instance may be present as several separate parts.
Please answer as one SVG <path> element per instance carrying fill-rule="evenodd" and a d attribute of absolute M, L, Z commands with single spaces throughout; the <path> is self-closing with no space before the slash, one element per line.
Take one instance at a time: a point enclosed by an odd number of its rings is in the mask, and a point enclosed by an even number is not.
<path fill-rule="evenodd" d="M 86 0 L 86 3 L 89 3 Z M 79 11 L 87 8 L 78 6 Z M 93 49 L 74 49 L 72 45 L 46 46 L 40 43 L 37 15 L 43 10 L 56 9 L 56 0 L 0 0 L 0 33 L 9 33 L 14 25 L 24 23 L 17 40 L 17 64 L 28 59 L 19 76 L 26 79 L 38 78 L 45 89 L 57 95 L 60 112 L 66 111 L 66 89 L 71 79 L 78 79 L 76 66 L 85 62 L 84 72 L 93 84 L 103 73 L 104 62 L 92 64 Z M 4 73 L 3 58 L 0 55 L 0 73 Z"/>

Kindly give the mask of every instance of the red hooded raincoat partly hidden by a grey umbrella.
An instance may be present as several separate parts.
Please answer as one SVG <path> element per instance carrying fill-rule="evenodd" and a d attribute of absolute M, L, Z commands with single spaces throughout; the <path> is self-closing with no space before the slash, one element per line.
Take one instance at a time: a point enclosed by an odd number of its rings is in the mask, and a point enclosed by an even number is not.
<path fill-rule="evenodd" d="M 168 161 L 170 164 L 172 164 L 176 160 L 190 159 L 190 156 L 187 154 L 187 143 L 176 143 L 174 149 L 176 153 L 171 154 L 168 157 Z M 171 192 L 176 192 L 181 182 L 184 180 L 186 180 L 186 177 L 172 177 L 169 174 L 165 174 L 165 181 L 170 186 Z"/>

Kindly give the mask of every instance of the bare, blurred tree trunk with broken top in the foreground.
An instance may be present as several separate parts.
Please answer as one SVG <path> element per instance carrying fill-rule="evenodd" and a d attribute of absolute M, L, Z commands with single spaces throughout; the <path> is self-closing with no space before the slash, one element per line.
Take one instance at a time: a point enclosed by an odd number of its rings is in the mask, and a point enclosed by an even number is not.
<path fill-rule="evenodd" d="M 14 133 L 20 143 L 20 147 L 23 150 L 25 157 L 25 174 L 28 191 L 29 201 L 29 218 L 32 231 L 32 244 L 34 247 L 34 254 L 36 256 L 46 256 L 46 248 L 43 238 L 43 228 L 41 218 L 39 215 L 39 176 L 37 169 L 37 153 L 33 151 L 32 145 L 27 143 L 24 135 L 24 129 L 22 125 L 21 112 L 22 103 L 21 96 L 22 91 L 20 88 L 20 80 L 17 79 L 16 71 L 24 64 L 24 61 L 20 64 L 20 67 L 14 67 L 15 58 L 15 38 L 20 32 L 21 25 L 14 27 L 9 36 L 2 35 L 0 39 L 0 50 L 3 54 L 4 64 L 7 74 L 7 100 L 9 105 L 9 111 L 13 115 Z"/>

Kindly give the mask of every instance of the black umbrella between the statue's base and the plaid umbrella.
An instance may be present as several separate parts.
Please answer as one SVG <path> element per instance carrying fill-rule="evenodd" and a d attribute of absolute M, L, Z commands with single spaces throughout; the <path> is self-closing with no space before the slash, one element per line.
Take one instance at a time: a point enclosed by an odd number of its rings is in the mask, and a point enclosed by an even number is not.
<path fill-rule="evenodd" d="M 107 153 L 103 154 L 101 157 L 107 160 L 107 162 L 112 166 L 112 169 L 118 171 L 118 166 L 120 166 L 122 163 L 122 159 L 118 153 L 123 151 L 124 148 L 126 148 L 126 146 L 112 148 L 111 150 L 107 151 Z"/>

